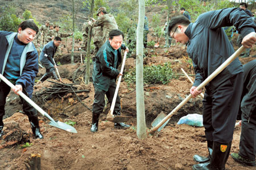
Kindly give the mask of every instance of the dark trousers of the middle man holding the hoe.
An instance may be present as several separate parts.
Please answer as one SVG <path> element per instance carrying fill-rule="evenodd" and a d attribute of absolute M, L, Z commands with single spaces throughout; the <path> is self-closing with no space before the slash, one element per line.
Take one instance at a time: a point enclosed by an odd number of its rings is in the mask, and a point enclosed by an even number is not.
<path fill-rule="evenodd" d="M 94 94 L 94 101 L 93 101 L 93 108 L 92 108 L 93 113 L 101 114 L 102 111 L 104 110 L 105 94 L 109 100 L 109 103 L 112 104 L 115 88 L 117 88 L 117 85 L 115 84 L 114 80 L 111 81 L 108 92 L 105 92 L 104 90 L 101 90 L 96 86 L 94 86 L 95 94 Z M 118 113 L 120 110 L 121 110 L 120 97 L 117 94 L 117 99 L 115 101 L 115 107 L 114 107 L 114 114 Z"/>

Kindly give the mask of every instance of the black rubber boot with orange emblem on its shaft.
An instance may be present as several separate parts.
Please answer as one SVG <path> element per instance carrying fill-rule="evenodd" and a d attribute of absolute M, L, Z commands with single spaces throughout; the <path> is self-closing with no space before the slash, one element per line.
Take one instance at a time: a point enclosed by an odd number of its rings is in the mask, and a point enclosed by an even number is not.
<path fill-rule="evenodd" d="M 207 163 L 193 165 L 194 170 L 224 170 L 226 161 L 228 160 L 231 143 L 222 144 L 213 142 L 213 152 L 210 161 Z"/>

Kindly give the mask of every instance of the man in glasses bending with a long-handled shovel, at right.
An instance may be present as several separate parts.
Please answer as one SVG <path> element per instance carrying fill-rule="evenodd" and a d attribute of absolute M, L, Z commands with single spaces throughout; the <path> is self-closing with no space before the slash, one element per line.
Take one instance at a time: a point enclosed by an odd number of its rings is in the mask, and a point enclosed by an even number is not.
<path fill-rule="evenodd" d="M 195 23 L 190 23 L 184 16 L 171 19 L 168 34 L 176 42 L 187 44 L 188 55 L 193 61 L 196 78 L 190 89 L 192 97 L 201 93 L 196 90 L 197 86 L 234 53 L 221 28 L 232 25 L 243 35 L 242 44 L 246 48 L 256 42 L 256 25 L 239 8 L 201 14 Z M 242 78 L 242 64 L 235 59 L 205 86 L 203 123 L 208 148 L 213 151 L 210 161 L 193 165 L 193 169 L 225 169 L 240 106 Z"/>

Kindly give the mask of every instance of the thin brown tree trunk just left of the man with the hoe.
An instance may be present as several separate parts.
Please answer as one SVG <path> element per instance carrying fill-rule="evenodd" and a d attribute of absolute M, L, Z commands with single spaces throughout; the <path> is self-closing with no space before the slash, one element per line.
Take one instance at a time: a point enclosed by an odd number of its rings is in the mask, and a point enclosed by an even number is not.
<path fill-rule="evenodd" d="M 90 18 L 93 18 L 94 0 L 90 3 Z M 92 40 L 92 27 L 90 27 L 87 39 L 86 48 L 86 73 L 85 73 L 85 84 L 89 84 L 90 81 L 90 41 Z"/>

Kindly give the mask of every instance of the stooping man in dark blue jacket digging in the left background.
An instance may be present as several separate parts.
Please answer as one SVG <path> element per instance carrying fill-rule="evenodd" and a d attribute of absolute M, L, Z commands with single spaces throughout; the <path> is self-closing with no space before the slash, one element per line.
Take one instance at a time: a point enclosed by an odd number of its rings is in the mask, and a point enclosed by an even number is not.
<path fill-rule="evenodd" d="M 44 45 L 42 52 L 40 54 L 40 62 L 46 67 L 46 73 L 40 79 L 41 82 L 44 82 L 47 78 L 53 76 L 54 79 L 58 79 L 55 68 L 57 65 L 53 60 L 53 56 L 57 51 L 57 47 L 61 44 L 61 38 L 56 36 L 53 41 Z"/>

